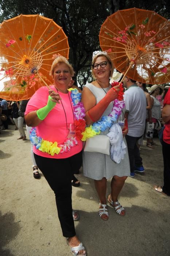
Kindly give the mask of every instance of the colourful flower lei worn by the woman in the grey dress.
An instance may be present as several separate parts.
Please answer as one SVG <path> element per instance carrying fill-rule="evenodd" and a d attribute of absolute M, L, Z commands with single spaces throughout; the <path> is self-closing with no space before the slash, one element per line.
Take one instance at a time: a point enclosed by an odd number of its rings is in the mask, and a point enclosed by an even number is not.
<path fill-rule="evenodd" d="M 112 87 L 118 85 L 118 82 L 113 82 L 111 84 Z M 112 123 L 117 120 L 117 118 L 121 114 L 121 110 L 125 106 L 125 102 L 123 101 L 123 84 L 120 84 L 120 91 L 118 93 L 118 99 L 115 99 L 113 101 L 113 108 L 111 113 L 108 116 L 103 116 L 100 121 L 97 121 L 90 125 L 90 127 L 86 127 L 85 131 L 82 132 L 83 138 L 82 141 L 85 141 L 86 139 L 93 137 L 97 134 L 100 134 L 100 132 L 105 131 L 105 129 L 111 127 Z"/>

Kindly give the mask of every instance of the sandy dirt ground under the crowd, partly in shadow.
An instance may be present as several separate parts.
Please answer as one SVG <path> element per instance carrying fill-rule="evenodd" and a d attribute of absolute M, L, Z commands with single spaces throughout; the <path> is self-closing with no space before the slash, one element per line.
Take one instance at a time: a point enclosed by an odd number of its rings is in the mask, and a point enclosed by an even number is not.
<path fill-rule="evenodd" d="M 43 176 L 33 178 L 30 141 L 18 137 L 13 126 L 0 134 L 0 255 L 69 256 L 53 191 Z M 140 151 L 146 172 L 129 177 L 121 192 L 125 217 L 109 207 L 109 220 L 102 221 L 93 181 L 78 176 L 81 187 L 73 188 L 73 208 L 80 221 L 75 225 L 88 256 L 170 255 L 170 198 L 152 189 L 163 181 L 161 145 L 155 141 L 154 150 L 144 141 Z"/>

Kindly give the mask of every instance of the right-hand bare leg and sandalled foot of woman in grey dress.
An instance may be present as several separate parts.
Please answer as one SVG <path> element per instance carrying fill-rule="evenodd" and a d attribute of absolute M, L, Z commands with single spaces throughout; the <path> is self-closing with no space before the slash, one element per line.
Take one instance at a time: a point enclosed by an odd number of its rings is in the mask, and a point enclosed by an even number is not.
<path fill-rule="evenodd" d="M 124 208 L 122 208 L 121 210 L 121 206 L 119 206 L 119 202 L 118 201 L 118 196 L 120 194 L 121 189 L 124 186 L 124 182 L 127 179 L 127 176 L 123 176 L 123 177 L 119 177 L 119 176 L 113 176 L 112 181 L 111 181 L 111 194 L 108 196 L 109 202 L 113 202 L 112 206 L 114 208 L 116 208 L 116 212 L 119 211 L 119 214 L 121 216 L 125 215 L 125 210 Z M 116 202 L 116 203 L 115 203 Z M 118 212 L 117 212 L 118 213 Z"/>

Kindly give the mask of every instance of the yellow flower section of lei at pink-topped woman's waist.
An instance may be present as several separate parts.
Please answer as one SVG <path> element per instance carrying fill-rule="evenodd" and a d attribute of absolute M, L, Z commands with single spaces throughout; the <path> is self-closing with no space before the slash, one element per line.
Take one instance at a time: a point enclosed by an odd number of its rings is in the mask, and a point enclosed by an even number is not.
<path fill-rule="evenodd" d="M 58 147 L 57 142 L 50 142 L 47 140 L 42 140 L 41 146 L 39 147 L 39 150 L 42 152 L 46 152 L 50 155 L 59 154 L 61 147 Z"/>

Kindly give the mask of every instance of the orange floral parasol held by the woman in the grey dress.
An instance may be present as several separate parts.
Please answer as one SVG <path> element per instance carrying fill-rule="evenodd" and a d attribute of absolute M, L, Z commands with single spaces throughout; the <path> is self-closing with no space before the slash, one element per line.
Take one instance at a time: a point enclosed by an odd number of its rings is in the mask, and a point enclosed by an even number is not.
<path fill-rule="evenodd" d="M 170 22 L 154 11 L 117 11 L 100 29 L 100 46 L 115 68 L 142 83 L 170 82 Z"/>

